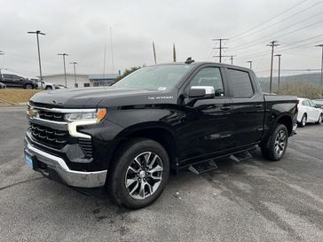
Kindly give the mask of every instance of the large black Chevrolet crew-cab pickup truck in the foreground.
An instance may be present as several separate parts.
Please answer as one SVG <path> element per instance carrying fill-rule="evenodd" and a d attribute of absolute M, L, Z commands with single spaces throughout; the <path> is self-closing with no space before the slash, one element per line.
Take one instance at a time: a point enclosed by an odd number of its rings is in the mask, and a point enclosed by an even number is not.
<path fill-rule="evenodd" d="M 264 94 L 247 68 L 146 66 L 110 87 L 42 91 L 28 103 L 25 160 L 69 186 L 106 187 L 124 207 L 157 199 L 170 170 L 260 146 L 280 160 L 297 99 Z"/>

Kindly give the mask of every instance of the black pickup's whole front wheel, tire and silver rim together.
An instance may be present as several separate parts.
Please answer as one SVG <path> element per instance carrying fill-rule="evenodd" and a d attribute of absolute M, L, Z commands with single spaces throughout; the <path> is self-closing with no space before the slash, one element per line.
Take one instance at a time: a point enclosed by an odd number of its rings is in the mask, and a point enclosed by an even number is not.
<path fill-rule="evenodd" d="M 117 152 L 106 186 L 119 206 L 138 209 L 158 199 L 168 180 L 169 156 L 162 145 L 136 138 Z"/>

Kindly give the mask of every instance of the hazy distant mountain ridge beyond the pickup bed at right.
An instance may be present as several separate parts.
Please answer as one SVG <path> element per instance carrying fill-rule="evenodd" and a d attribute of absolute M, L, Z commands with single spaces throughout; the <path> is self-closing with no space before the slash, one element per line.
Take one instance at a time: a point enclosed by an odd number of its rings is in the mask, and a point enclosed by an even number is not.
<path fill-rule="evenodd" d="M 264 92 L 269 92 L 269 77 L 257 77 L 262 90 Z M 280 85 L 285 83 L 306 83 L 311 85 L 320 85 L 320 73 L 313 74 L 295 74 L 295 75 L 285 75 L 280 76 Z M 276 91 L 278 87 L 278 77 L 272 78 L 272 91 Z"/>

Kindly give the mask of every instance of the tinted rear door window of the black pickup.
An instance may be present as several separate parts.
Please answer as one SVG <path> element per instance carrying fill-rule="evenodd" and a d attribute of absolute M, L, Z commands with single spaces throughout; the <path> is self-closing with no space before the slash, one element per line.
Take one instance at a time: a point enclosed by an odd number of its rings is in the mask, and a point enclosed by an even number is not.
<path fill-rule="evenodd" d="M 234 97 L 248 98 L 254 94 L 248 72 L 227 69 L 231 93 Z"/>

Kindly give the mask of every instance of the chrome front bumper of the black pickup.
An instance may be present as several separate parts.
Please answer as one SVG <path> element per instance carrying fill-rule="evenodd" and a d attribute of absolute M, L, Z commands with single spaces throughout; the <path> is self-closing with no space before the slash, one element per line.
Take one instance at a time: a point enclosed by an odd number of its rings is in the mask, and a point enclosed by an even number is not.
<path fill-rule="evenodd" d="M 44 176 L 53 178 L 54 171 L 63 183 L 74 187 L 93 188 L 104 186 L 106 183 L 106 170 L 101 171 L 76 171 L 67 167 L 65 160 L 52 155 L 47 152 L 43 152 L 28 142 L 25 138 L 25 152 L 35 160 L 35 162 L 42 162 L 42 166 L 35 166 L 36 171 L 41 172 Z"/>

